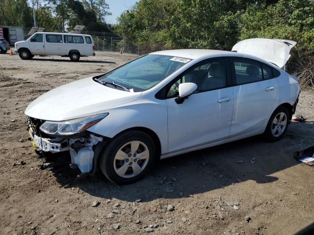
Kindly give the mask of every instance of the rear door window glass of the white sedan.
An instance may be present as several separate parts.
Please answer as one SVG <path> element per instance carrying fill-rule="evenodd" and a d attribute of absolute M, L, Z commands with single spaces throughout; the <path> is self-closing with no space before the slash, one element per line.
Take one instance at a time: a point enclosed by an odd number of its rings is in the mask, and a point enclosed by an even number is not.
<path fill-rule="evenodd" d="M 263 80 L 261 64 L 251 60 L 234 59 L 236 84 Z"/>

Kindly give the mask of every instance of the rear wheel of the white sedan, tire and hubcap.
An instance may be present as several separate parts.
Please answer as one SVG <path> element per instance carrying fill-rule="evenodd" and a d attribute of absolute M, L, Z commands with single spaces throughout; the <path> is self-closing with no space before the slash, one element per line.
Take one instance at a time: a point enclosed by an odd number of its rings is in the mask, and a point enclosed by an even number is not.
<path fill-rule="evenodd" d="M 278 122 L 279 121 L 279 122 Z M 267 141 L 279 141 L 285 135 L 289 124 L 289 112 L 283 106 L 279 106 L 269 118 L 264 137 Z"/>

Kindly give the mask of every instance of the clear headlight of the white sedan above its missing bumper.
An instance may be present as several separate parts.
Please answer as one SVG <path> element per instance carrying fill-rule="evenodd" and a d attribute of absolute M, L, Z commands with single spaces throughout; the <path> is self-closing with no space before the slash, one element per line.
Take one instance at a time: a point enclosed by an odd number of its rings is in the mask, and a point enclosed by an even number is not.
<path fill-rule="evenodd" d="M 45 121 L 39 129 L 46 134 L 70 136 L 85 131 L 107 116 L 108 113 L 68 121 Z"/>

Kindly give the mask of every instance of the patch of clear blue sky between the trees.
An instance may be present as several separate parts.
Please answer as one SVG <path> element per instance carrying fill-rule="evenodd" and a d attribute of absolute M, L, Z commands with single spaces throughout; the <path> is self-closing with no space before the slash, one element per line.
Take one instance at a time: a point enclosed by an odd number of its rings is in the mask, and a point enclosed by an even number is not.
<path fill-rule="evenodd" d="M 106 23 L 117 23 L 117 17 L 119 17 L 122 12 L 130 9 L 137 1 L 138 0 L 106 0 L 106 3 L 110 7 L 109 11 L 112 13 L 111 16 L 106 16 Z"/>

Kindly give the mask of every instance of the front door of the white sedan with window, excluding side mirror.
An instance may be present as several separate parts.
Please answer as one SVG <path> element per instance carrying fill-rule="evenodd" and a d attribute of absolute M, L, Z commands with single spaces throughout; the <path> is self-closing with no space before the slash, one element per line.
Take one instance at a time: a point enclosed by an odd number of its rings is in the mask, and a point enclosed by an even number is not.
<path fill-rule="evenodd" d="M 229 72 L 223 58 L 200 62 L 169 84 L 168 152 L 227 139 L 233 112 L 233 88 L 227 87 Z M 193 82 L 194 94 L 177 104 L 179 84 Z"/>

